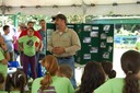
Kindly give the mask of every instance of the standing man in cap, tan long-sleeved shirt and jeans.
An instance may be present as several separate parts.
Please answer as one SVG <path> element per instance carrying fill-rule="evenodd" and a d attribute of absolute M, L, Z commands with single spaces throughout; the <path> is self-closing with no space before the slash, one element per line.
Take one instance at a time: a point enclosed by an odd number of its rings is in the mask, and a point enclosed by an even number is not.
<path fill-rule="evenodd" d="M 63 14 L 56 15 L 55 24 L 57 31 L 51 34 L 48 42 L 48 50 L 57 57 L 59 65 L 67 63 L 72 68 L 73 77 L 71 78 L 71 83 L 75 88 L 73 55 L 81 49 L 81 44 L 78 34 L 73 30 L 68 28 L 66 23 L 67 18 Z"/>

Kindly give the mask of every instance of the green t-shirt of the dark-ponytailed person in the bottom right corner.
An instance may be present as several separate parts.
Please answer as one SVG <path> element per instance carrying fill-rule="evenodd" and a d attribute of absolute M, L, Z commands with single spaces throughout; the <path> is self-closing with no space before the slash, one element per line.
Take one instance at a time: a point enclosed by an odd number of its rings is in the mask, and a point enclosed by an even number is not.
<path fill-rule="evenodd" d="M 124 78 L 109 79 L 97 88 L 94 93 L 122 93 Z"/>

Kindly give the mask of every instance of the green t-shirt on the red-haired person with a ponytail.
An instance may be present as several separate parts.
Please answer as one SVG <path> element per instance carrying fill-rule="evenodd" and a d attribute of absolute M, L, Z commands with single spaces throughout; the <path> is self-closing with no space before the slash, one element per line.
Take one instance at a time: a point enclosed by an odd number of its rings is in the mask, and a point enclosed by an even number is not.
<path fill-rule="evenodd" d="M 40 80 L 43 80 L 43 78 L 37 78 L 34 80 L 32 84 L 32 93 L 37 93 L 40 88 Z M 52 83 L 50 86 L 54 86 L 57 93 L 74 93 L 71 82 L 67 78 L 57 75 L 52 77 Z"/>

